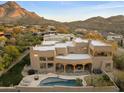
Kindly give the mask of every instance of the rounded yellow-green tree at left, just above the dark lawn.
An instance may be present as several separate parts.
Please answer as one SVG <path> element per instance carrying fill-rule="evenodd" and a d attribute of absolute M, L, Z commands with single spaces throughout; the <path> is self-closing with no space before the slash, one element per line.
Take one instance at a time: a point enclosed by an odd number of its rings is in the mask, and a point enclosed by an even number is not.
<path fill-rule="evenodd" d="M 5 53 L 7 53 L 12 59 L 17 58 L 20 55 L 20 52 L 16 46 L 6 46 Z"/>

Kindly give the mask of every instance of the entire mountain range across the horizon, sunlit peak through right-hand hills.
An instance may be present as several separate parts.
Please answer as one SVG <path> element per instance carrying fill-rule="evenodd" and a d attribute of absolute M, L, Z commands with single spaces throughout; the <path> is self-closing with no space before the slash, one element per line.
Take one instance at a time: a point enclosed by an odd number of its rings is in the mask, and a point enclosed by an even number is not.
<path fill-rule="evenodd" d="M 74 31 L 77 28 L 90 30 L 98 30 L 101 32 L 115 32 L 124 35 L 124 16 L 92 17 L 87 20 L 73 22 L 58 22 L 40 17 L 34 12 L 30 12 L 14 1 L 8 1 L 0 5 L 0 23 L 11 24 L 39 24 L 39 25 L 54 25 L 60 32 Z"/>

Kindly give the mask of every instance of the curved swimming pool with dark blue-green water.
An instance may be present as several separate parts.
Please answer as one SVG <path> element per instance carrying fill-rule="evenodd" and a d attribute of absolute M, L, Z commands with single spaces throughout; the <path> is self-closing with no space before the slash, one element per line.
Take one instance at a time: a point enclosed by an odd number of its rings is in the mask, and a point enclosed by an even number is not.
<path fill-rule="evenodd" d="M 42 80 L 39 86 L 79 86 L 75 79 L 66 80 L 58 77 L 48 77 Z"/>

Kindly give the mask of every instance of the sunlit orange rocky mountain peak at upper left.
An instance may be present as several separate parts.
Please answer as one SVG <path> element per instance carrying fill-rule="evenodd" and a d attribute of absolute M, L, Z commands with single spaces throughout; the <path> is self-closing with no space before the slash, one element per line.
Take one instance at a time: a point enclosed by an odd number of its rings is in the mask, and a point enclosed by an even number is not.
<path fill-rule="evenodd" d="M 8 1 L 0 5 L 1 23 L 35 23 L 43 18 L 22 8 L 14 1 Z"/>

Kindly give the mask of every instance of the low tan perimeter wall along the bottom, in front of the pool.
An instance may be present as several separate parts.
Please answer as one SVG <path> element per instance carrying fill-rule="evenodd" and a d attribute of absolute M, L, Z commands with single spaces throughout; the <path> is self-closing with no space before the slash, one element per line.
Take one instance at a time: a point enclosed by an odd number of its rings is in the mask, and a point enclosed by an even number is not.
<path fill-rule="evenodd" d="M 64 86 L 49 86 L 49 87 L 16 87 L 21 92 L 118 92 L 119 89 L 115 86 L 107 87 L 64 87 Z"/>

